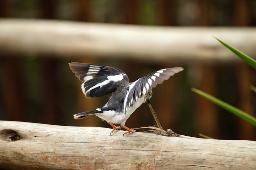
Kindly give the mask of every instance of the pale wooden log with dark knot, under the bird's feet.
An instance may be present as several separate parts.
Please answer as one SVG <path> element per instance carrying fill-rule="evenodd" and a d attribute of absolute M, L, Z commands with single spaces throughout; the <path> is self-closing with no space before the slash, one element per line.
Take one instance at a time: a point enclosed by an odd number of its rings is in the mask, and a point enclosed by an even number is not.
<path fill-rule="evenodd" d="M 13 130 L 12 134 L 9 134 Z M 11 141 L 14 131 L 20 140 Z M 256 169 L 256 142 L 0 121 L 0 168 Z M 17 137 L 16 137 L 17 138 Z M 7 141 L 6 141 L 7 140 Z"/>

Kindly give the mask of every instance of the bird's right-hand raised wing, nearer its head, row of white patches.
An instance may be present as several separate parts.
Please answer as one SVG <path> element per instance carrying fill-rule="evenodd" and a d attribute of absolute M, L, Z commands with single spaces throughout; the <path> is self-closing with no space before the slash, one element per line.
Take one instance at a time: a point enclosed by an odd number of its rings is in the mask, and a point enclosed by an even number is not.
<path fill-rule="evenodd" d="M 124 98 L 124 113 L 126 113 L 127 107 L 132 104 L 133 100 L 137 101 L 142 94 L 147 95 L 156 85 L 162 84 L 164 80 L 182 70 L 182 67 L 165 68 L 134 81 L 128 86 L 129 90 Z"/>

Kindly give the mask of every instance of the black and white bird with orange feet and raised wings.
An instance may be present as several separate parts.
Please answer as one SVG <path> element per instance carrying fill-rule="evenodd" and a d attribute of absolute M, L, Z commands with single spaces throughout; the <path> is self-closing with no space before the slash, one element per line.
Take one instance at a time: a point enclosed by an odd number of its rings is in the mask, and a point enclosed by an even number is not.
<path fill-rule="evenodd" d="M 130 83 L 127 74 L 118 68 L 85 63 L 69 63 L 69 67 L 84 82 L 81 88 L 86 98 L 112 93 L 102 108 L 74 114 L 74 118 L 82 119 L 95 114 L 113 127 L 111 133 L 122 127 L 128 130 L 124 134 L 135 132 L 124 124 L 142 103 L 149 102 L 152 88 L 183 70 L 182 67 L 165 68 Z M 120 124 L 121 127 L 114 124 Z"/>

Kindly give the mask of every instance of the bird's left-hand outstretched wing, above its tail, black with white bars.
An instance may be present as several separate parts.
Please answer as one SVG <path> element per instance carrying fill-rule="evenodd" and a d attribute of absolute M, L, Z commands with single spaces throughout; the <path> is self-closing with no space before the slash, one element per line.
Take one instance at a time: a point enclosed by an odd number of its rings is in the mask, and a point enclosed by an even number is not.
<path fill-rule="evenodd" d="M 97 64 L 69 63 L 79 80 L 86 98 L 100 97 L 116 90 L 116 82 L 129 81 L 128 76 L 118 68 Z"/>

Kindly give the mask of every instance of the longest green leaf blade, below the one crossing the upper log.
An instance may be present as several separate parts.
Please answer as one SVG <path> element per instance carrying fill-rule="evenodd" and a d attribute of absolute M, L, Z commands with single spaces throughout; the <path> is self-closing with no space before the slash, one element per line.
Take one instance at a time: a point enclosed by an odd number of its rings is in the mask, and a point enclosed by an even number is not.
<path fill-rule="evenodd" d="M 197 94 L 207 98 L 208 100 L 212 101 L 213 103 L 219 105 L 220 107 L 226 109 L 227 111 L 235 114 L 236 116 L 246 120 L 247 122 L 251 123 L 252 125 L 256 126 L 256 118 L 251 116 L 250 114 L 245 113 L 244 111 L 241 111 L 238 108 L 235 108 L 234 106 L 231 106 L 228 103 L 225 103 L 221 100 L 219 100 L 218 98 L 215 98 L 201 90 L 195 89 L 195 88 L 191 88 L 192 91 L 196 92 Z"/>

